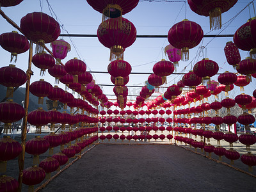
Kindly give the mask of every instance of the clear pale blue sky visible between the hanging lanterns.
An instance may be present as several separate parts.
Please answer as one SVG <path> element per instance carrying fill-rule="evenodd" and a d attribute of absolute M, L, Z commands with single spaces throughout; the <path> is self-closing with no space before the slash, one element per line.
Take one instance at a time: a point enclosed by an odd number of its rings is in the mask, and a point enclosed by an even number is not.
<path fill-rule="evenodd" d="M 93 34 L 97 33 L 97 28 L 102 20 L 102 15 L 93 10 L 93 8 L 86 2 L 86 0 L 75 0 L 75 1 L 56 1 L 48 0 L 54 13 L 49 10 L 47 1 L 41 0 L 24 0 L 17 6 L 1 8 L 10 19 L 20 25 L 20 19 L 27 13 L 40 12 L 41 7 L 44 13 L 56 19 L 60 25 L 63 24 L 65 30 L 70 34 Z M 40 5 L 41 2 L 41 5 Z M 236 29 L 250 19 L 249 9 L 243 8 L 250 3 L 250 0 L 239 0 L 236 5 L 231 8 L 228 12 L 222 14 L 223 27 L 220 30 L 210 31 L 209 17 L 197 15 L 192 12 L 187 4 L 184 3 L 168 3 L 168 2 L 149 2 L 141 1 L 134 10 L 130 13 L 125 14 L 123 17 L 130 20 L 137 29 L 137 35 L 167 35 L 169 29 L 173 24 L 180 22 L 185 19 L 187 13 L 187 19 L 195 21 L 200 24 L 204 30 L 204 34 L 234 34 Z M 186 9 L 185 9 L 186 7 Z M 186 11 L 185 11 L 186 10 Z M 243 10 L 243 12 L 241 12 Z M 250 6 L 251 17 L 255 17 L 253 12 L 253 6 Z M 234 18 L 237 13 L 241 12 L 232 22 L 230 19 Z M 15 30 L 6 20 L 0 17 L 0 33 L 6 33 Z M 67 31 L 61 33 L 67 34 Z M 84 60 L 87 65 L 87 70 L 92 71 L 107 71 L 109 64 L 109 49 L 100 44 L 97 38 L 75 38 L 75 37 L 64 37 L 71 45 L 71 51 L 68 52 L 67 58 L 62 60 L 66 63 L 68 60 L 77 57 Z M 72 40 L 72 42 L 71 42 Z M 218 63 L 220 70 L 219 73 L 235 72 L 232 66 L 228 65 L 224 54 L 224 47 L 226 42 L 231 41 L 232 38 L 204 38 L 200 43 L 202 46 L 207 47 L 207 58 L 214 60 Z M 128 61 L 132 66 L 132 72 L 152 72 L 152 67 L 157 61 L 160 61 L 164 56 L 163 49 L 168 45 L 167 38 L 137 38 L 136 42 L 128 47 L 124 53 L 124 60 Z M 75 48 L 75 47 L 76 48 Z M 47 47 L 51 50 L 49 44 Z M 197 61 L 205 58 L 200 54 L 196 56 L 198 47 L 189 50 L 189 61 L 180 61 L 177 72 L 189 72 L 191 66 L 195 65 Z M 242 60 L 248 56 L 248 52 L 241 51 Z M 10 64 L 10 53 L 0 47 L 0 67 L 4 67 Z M 26 72 L 28 68 L 28 52 L 19 54 L 16 67 L 21 68 Z M 31 77 L 31 83 L 38 81 L 38 79 L 44 78 L 52 85 L 54 84 L 54 77 L 51 77 L 48 73 L 45 76 L 40 77 L 40 69 L 35 66 L 32 67 L 34 76 Z M 130 75 L 130 81 L 127 85 L 141 85 L 145 84 L 148 75 Z M 177 83 L 182 76 L 171 75 L 168 79 L 168 84 L 164 86 L 170 86 L 173 83 Z M 218 76 L 214 76 L 212 79 L 217 80 Z M 93 74 L 93 79 L 96 80 L 97 84 L 112 84 L 110 81 L 109 74 Z M 24 85 L 25 86 L 25 85 Z M 63 84 L 59 85 L 65 89 Z M 255 79 L 252 80 L 249 86 L 244 88 L 245 93 L 252 95 L 253 90 L 256 89 Z M 139 95 L 140 88 L 129 88 L 129 95 Z M 164 92 L 165 89 L 161 89 Z M 113 86 L 104 86 L 104 94 L 113 94 Z M 240 93 L 239 88 L 235 91 L 238 95 Z M 116 99 L 116 97 L 108 96 L 109 99 Z M 136 99 L 135 97 L 128 97 L 128 99 Z"/>

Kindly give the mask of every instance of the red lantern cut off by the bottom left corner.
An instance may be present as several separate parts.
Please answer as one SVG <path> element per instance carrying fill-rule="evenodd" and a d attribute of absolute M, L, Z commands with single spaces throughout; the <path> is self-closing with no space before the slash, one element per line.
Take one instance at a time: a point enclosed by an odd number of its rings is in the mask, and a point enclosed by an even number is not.
<path fill-rule="evenodd" d="M 0 176 L 0 189 L 2 191 L 15 192 L 18 191 L 19 182 L 9 176 L 1 175 Z"/>

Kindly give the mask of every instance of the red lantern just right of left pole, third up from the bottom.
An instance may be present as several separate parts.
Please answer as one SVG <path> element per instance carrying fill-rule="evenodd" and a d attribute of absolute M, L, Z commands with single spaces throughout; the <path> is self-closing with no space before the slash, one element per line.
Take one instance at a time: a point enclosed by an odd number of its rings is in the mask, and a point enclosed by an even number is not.
<path fill-rule="evenodd" d="M 44 111 L 43 108 L 38 108 L 28 114 L 28 122 L 29 124 L 36 126 L 36 133 L 41 134 L 41 127 L 49 124 L 50 120 L 51 115 Z"/>

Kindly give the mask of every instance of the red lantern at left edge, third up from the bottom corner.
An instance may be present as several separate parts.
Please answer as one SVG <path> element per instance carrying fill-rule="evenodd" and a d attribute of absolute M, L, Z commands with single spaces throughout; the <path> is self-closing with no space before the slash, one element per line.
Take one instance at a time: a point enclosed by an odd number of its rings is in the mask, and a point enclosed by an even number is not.
<path fill-rule="evenodd" d="M 4 122 L 4 133 L 12 129 L 12 123 L 19 121 L 25 115 L 25 110 L 12 99 L 0 103 L 0 122 Z"/>

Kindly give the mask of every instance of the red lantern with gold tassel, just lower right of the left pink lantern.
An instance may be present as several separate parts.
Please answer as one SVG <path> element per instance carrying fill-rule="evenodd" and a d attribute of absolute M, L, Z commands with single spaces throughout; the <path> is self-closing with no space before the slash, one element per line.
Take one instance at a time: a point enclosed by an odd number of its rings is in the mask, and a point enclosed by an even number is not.
<path fill-rule="evenodd" d="M 65 70 L 68 74 L 73 76 L 74 83 L 78 83 L 78 76 L 86 71 L 86 64 L 84 61 L 74 58 L 65 63 Z"/>

